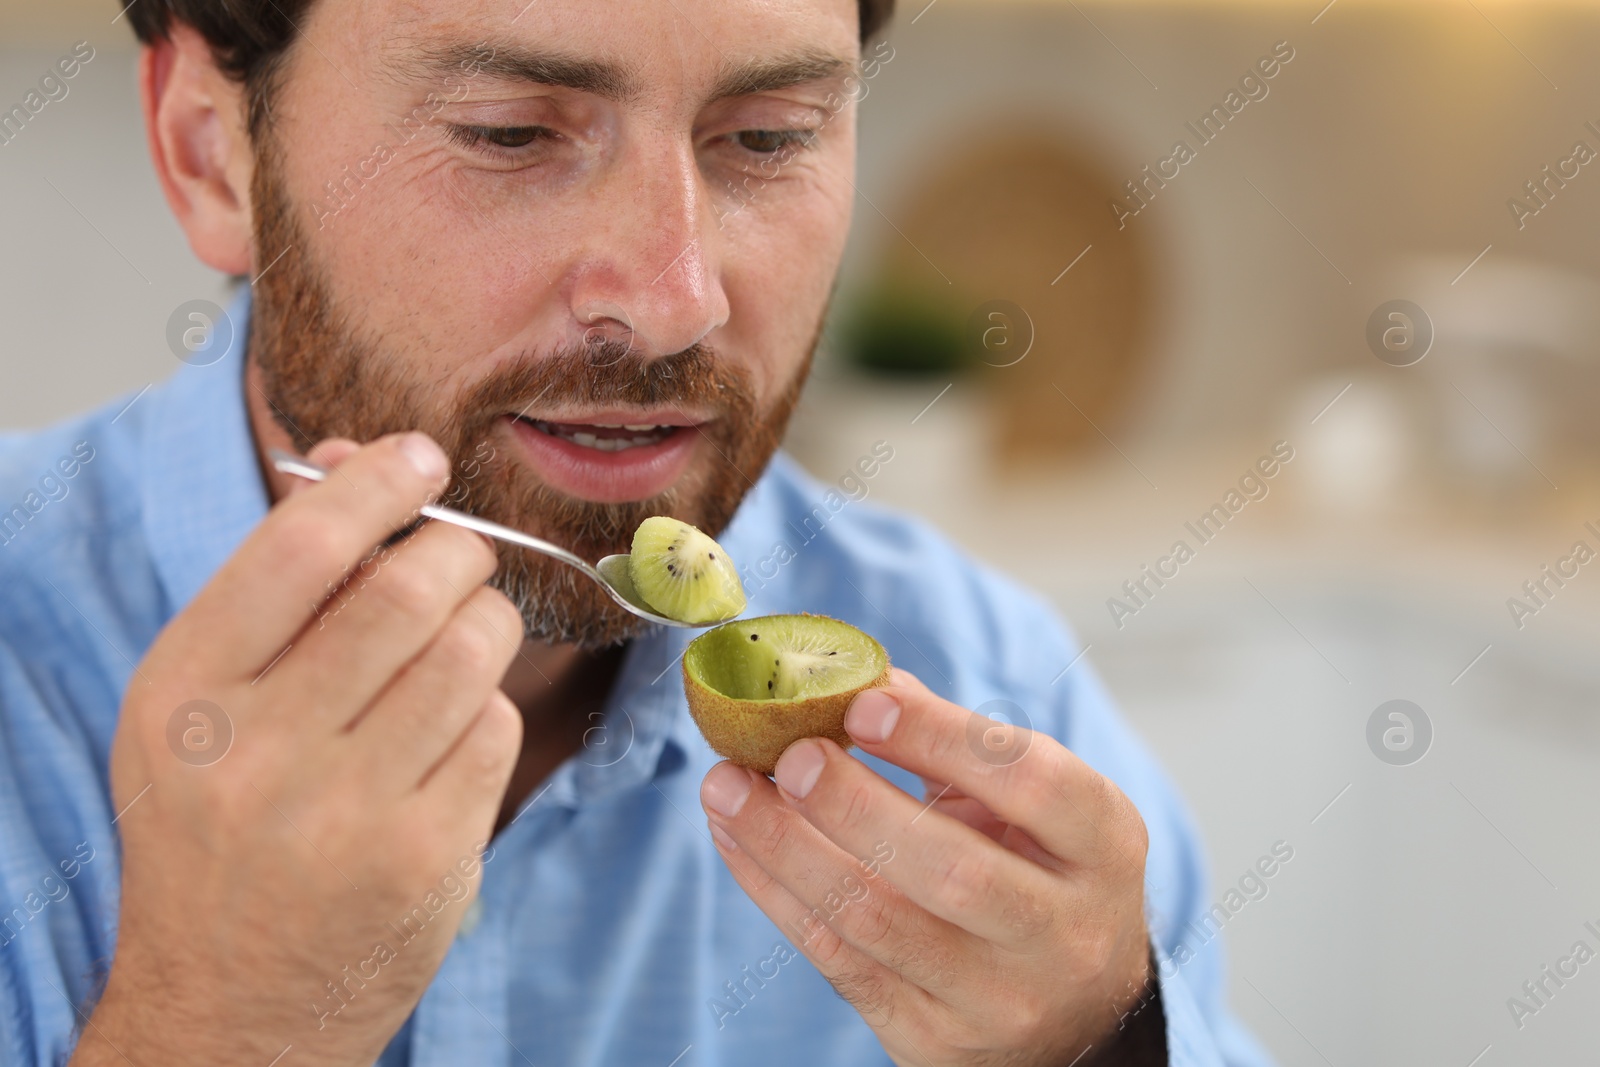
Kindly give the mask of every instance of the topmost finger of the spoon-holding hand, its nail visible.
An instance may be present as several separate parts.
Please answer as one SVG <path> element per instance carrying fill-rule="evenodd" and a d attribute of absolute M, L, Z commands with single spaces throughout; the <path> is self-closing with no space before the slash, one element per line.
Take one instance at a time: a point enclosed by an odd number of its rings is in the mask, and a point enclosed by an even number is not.
<path fill-rule="evenodd" d="M 326 584 L 411 522 L 448 475 L 445 453 L 421 434 L 366 445 L 274 507 L 152 651 L 190 669 L 198 661 L 206 675 L 254 678 L 306 625 Z"/>

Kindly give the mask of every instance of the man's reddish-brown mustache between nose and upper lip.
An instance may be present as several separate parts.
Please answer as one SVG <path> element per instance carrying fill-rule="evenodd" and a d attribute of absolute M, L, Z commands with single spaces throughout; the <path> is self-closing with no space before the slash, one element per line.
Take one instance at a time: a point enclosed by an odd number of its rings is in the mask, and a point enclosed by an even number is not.
<path fill-rule="evenodd" d="M 478 382 L 461 410 L 494 419 L 504 411 L 526 411 L 541 400 L 584 406 L 678 405 L 710 410 L 733 422 L 755 410 L 749 373 L 710 346 L 645 355 L 610 339 L 518 357 Z"/>

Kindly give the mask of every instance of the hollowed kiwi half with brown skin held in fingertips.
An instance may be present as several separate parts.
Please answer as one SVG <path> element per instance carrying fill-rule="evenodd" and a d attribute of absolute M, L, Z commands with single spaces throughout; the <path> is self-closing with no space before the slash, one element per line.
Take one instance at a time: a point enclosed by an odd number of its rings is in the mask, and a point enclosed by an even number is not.
<path fill-rule="evenodd" d="M 717 755 L 762 774 L 802 737 L 832 737 L 848 749 L 850 702 L 888 680 L 882 645 L 821 614 L 726 622 L 683 653 L 694 725 Z"/>

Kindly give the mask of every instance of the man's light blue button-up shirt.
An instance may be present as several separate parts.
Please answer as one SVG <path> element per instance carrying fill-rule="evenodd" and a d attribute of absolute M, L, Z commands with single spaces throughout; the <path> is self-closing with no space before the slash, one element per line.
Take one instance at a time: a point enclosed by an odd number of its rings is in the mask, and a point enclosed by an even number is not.
<path fill-rule="evenodd" d="M 248 294 L 232 315 L 242 339 Z M 138 398 L 0 437 L 8 1065 L 66 1061 L 75 1006 L 91 1008 L 112 957 L 120 845 L 107 753 L 134 664 L 267 510 L 242 352 L 235 341 Z M 1189 816 L 1074 638 L 1040 598 L 856 499 L 862 486 L 861 470 L 824 485 L 773 461 L 722 539 L 744 561 L 750 614 L 853 622 L 942 696 L 973 709 L 1011 701 L 1115 781 L 1149 825 L 1171 1064 L 1266 1064 L 1227 1014 L 1219 942 L 1195 933 L 1211 904 Z M 384 1067 L 888 1064 L 789 949 L 798 936 L 755 907 L 710 845 L 699 784 L 717 757 L 688 718 L 686 640 L 656 630 L 630 645 L 603 729 L 494 838 L 482 907 Z M 922 795 L 914 776 L 869 763 Z M 216 768 L 227 771 L 226 757 Z"/>

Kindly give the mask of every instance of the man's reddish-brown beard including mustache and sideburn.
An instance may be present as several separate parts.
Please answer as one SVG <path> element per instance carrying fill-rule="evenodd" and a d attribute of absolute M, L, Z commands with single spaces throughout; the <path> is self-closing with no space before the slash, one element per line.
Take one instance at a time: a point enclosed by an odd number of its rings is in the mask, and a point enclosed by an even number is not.
<path fill-rule="evenodd" d="M 634 531 L 651 515 L 672 515 L 714 537 L 726 528 L 782 440 L 826 309 L 798 373 L 765 410 L 747 370 L 704 344 L 659 357 L 621 341 L 526 352 L 442 395 L 438 386 L 408 376 L 406 358 L 334 302 L 278 163 L 272 134 L 262 133 L 251 181 L 256 251 L 293 248 L 294 254 L 254 285 L 248 358 L 259 370 L 274 421 L 301 453 L 328 437 L 370 442 L 422 430 L 451 458 L 454 478 L 442 504 L 544 537 L 590 563 L 627 552 Z M 651 499 L 598 504 L 573 498 L 504 448 L 510 437 L 501 426 L 506 414 L 541 400 L 566 410 L 637 405 L 715 413 L 699 427 L 675 430 L 704 435 L 714 458 Z M 598 649 L 648 625 L 576 568 L 504 541 L 494 541 L 494 550 L 499 565 L 490 584 L 517 605 L 528 637 Z"/>

